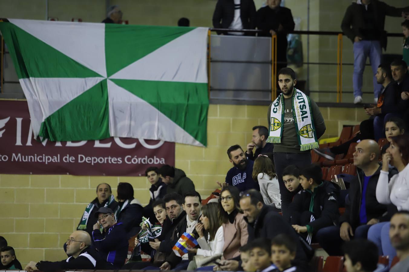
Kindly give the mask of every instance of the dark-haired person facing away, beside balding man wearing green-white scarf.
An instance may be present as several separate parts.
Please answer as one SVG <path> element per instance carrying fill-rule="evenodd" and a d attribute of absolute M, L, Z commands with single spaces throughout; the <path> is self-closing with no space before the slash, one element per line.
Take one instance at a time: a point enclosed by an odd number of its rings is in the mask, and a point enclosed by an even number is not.
<path fill-rule="evenodd" d="M 117 187 L 118 207 L 115 210 L 117 222 L 124 224 L 128 239 L 138 234 L 144 208 L 133 197 L 133 187 L 130 183 L 121 182 Z"/>

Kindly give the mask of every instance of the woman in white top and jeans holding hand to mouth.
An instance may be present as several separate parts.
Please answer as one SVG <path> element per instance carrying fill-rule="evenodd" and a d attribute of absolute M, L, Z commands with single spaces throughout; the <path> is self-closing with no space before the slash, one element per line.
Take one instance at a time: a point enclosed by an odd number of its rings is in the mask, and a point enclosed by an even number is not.
<path fill-rule="evenodd" d="M 376 185 L 376 199 L 381 204 L 393 204 L 398 210 L 409 210 L 409 136 L 391 137 L 390 146 L 382 155 L 382 170 Z M 389 164 L 398 170 L 389 181 Z M 368 239 L 378 245 L 380 255 L 396 256 L 389 239 L 389 222 L 375 224 L 369 228 Z"/>

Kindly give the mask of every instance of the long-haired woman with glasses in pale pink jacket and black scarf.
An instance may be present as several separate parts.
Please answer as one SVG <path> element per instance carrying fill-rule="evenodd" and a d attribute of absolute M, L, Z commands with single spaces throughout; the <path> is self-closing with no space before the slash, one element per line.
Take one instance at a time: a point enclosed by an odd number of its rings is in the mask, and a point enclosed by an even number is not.
<path fill-rule="evenodd" d="M 220 192 L 219 212 L 223 227 L 223 256 L 232 259 L 240 255 L 238 249 L 247 244 L 247 222 L 240 210 L 240 192 L 235 186 L 227 186 Z"/>

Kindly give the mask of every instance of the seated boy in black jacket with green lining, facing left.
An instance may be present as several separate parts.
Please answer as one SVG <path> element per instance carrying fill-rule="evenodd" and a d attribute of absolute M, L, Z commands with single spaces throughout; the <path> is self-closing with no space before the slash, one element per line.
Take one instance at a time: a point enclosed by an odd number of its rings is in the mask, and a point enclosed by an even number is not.
<path fill-rule="evenodd" d="M 304 190 L 290 204 L 290 223 L 298 233 L 306 234 L 304 237 L 311 243 L 313 233 L 333 225 L 338 218 L 338 190 L 332 183 L 322 181 L 318 165 L 301 170 L 300 184 Z"/>

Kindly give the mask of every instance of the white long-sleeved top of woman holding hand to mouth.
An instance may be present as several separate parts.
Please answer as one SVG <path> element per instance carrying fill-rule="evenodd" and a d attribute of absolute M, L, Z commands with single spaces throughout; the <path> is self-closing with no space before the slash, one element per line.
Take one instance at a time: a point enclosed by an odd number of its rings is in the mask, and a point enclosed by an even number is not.
<path fill-rule="evenodd" d="M 381 204 L 393 203 L 398 210 L 409 210 L 409 164 L 394 175 L 388 183 L 388 172 L 381 170 L 376 185 L 376 200 Z"/>

